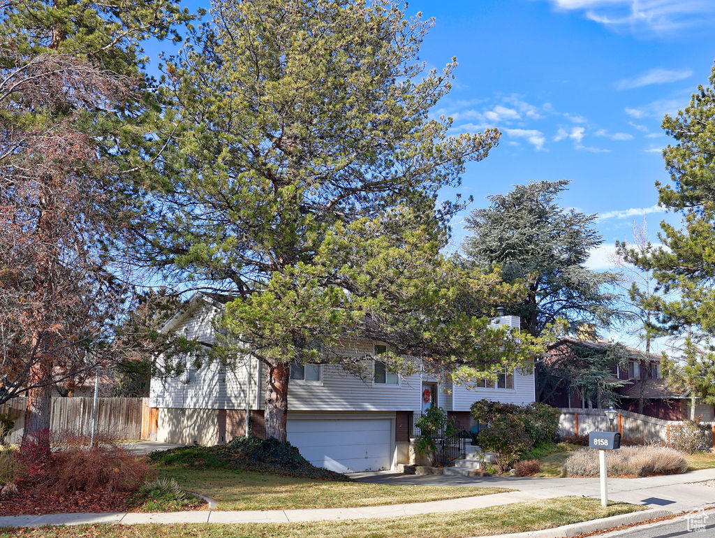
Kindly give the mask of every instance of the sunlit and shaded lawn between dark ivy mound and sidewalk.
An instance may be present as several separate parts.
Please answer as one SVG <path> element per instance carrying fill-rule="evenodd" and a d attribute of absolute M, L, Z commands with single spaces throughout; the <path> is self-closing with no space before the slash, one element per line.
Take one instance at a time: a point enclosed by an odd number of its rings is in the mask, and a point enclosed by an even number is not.
<path fill-rule="evenodd" d="M 375 507 L 511 491 L 488 487 L 398 486 L 337 482 L 232 469 L 157 466 L 187 491 L 214 499 L 219 510 Z"/>

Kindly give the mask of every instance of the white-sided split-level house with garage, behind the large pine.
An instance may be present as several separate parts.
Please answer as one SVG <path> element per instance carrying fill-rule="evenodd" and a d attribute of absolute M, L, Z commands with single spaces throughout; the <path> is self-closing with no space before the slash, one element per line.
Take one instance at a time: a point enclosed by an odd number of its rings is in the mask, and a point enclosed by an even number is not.
<path fill-rule="evenodd" d="M 212 318 L 227 300 L 225 295 L 197 293 L 163 330 L 211 343 Z M 518 318 L 502 316 L 493 323 L 518 326 Z M 345 348 L 354 356 L 386 349 L 385 343 L 359 339 L 346 339 Z M 391 373 L 379 361 L 366 361 L 365 366 L 372 370 L 369 381 L 337 364 L 292 366 L 287 439 L 313 464 L 335 471 L 395 469 L 409 462 L 413 421 L 425 407 L 442 407 L 468 429 L 469 409 L 477 400 L 534 401 L 532 367 L 505 372 L 495 386 L 468 389 L 419 373 Z M 181 378 L 152 378 L 149 405 L 159 408 L 157 440 L 224 443 L 245 434 L 247 414 L 250 433 L 264 436 L 264 383 L 260 363 L 250 358 L 230 370 L 212 364 Z"/>

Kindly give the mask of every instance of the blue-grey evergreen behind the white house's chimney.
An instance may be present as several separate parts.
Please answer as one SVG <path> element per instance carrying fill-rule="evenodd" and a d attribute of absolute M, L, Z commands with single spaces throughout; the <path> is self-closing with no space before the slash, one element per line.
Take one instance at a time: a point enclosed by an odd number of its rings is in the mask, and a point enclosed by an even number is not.
<path fill-rule="evenodd" d="M 506 195 L 491 195 L 489 207 L 467 218 L 471 235 L 463 245 L 464 263 L 498 268 L 506 282 L 526 283 L 526 297 L 505 306 L 535 336 L 557 318 L 576 331 L 583 324 L 608 325 L 618 315 L 616 296 L 607 290 L 617 276 L 585 266 L 591 250 L 603 243 L 593 226 L 596 215 L 556 203 L 567 185 L 517 185 Z"/>

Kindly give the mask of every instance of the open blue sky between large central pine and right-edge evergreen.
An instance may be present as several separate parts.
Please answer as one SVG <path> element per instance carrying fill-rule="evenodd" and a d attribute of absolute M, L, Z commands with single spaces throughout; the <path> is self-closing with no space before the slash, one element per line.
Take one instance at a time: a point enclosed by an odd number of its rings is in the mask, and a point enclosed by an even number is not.
<path fill-rule="evenodd" d="M 609 245 L 630 238 L 634 218 L 649 212 L 655 234 L 665 215 L 654 207 L 654 182 L 668 179 L 660 124 L 707 82 L 715 2 L 417 0 L 410 11 L 436 19 L 425 62 L 458 58 L 440 107 L 455 129 L 503 132 L 465 174 L 461 191 L 473 207 L 519 183 L 571 180 L 563 205 L 601 214 L 606 245 L 594 268 L 608 265 Z"/>

